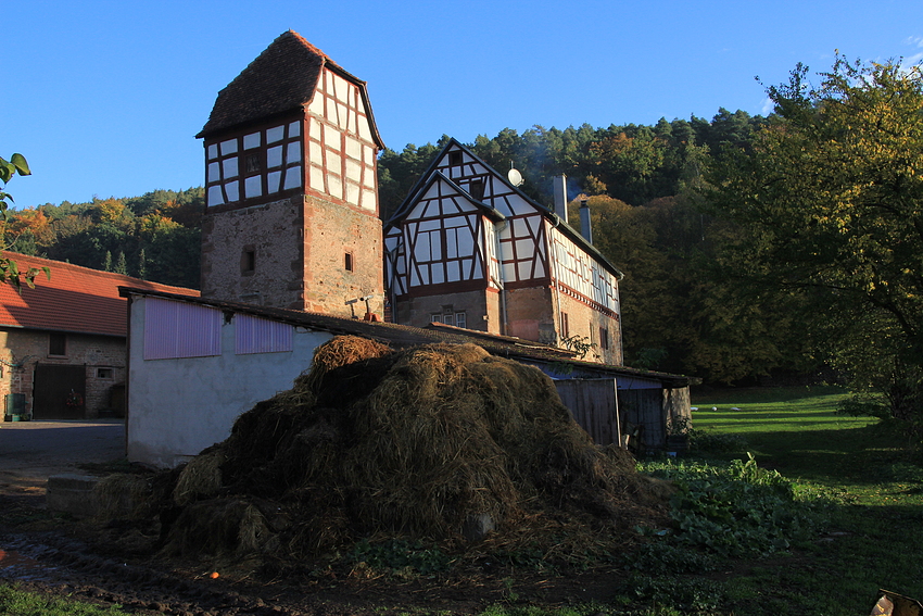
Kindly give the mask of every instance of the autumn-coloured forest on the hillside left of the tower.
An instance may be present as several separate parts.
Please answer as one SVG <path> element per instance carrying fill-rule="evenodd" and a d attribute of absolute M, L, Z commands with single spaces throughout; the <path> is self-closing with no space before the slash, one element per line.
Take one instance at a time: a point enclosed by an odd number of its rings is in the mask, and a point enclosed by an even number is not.
<path fill-rule="evenodd" d="M 23 254 L 197 289 L 204 190 L 39 205 L 10 212 L 5 241 Z"/>

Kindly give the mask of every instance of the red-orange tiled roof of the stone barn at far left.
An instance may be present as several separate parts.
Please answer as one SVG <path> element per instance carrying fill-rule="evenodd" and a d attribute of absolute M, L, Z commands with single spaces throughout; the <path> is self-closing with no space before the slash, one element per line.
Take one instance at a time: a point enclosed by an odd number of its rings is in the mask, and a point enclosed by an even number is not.
<path fill-rule="evenodd" d="M 20 272 L 29 267 L 48 267 L 51 280 L 41 273 L 35 289 L 23 286 L 17 293 L 12 285 L 0 284 L 0 327 L 50 329 L 78 334 L 126 336 L 128 310 L 118 296 L 118 287 L 136 287 L 154 291 L 198 297 L 199 291 L 170 287 L 99 272 L 61 261 L 4 252 L 16 262 Z"/>

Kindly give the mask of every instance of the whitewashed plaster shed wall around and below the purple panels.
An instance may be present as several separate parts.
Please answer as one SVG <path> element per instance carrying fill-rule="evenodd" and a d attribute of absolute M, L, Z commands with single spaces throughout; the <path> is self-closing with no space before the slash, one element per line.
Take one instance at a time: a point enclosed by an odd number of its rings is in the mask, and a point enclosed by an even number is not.
<path fill-rule="evenodd" d="M 228 438 L 255 403 L 291 389 L 333 336 L 296 328 L 291 352 L 236 355 L 231 322 L 220 356 L 146 361 L 144 299 L 135 297 L 129 337 L 128 460 L 174 467 Z"/>

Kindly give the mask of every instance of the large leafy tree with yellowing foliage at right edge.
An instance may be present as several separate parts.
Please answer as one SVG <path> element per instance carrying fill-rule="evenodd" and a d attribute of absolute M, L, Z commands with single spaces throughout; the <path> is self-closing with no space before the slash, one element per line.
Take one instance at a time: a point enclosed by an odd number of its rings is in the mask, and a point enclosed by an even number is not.
<path fill-rule="evenodd" d="M 805 330 L 923 422 L 923 75 L 837 55 L 811 86 L 798 65 L 768 88 L 777 116 L 717 166 L 737 224 L 722 260 L 755 296 L 795 296 Z M 800 309 L 797 306 L 800 305 Z"/>

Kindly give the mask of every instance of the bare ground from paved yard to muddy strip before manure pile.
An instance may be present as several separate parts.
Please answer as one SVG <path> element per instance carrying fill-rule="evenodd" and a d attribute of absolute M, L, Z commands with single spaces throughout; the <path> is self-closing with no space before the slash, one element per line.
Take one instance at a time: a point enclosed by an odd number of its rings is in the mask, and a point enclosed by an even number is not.
<path fill-rule="evenodd" d="M 382 576 L 306 562 L 299 571 L 257 579 L 231 563 L 160 558 L 156 529 L 47 511 L 48 476 L 124 460 L 124 425 L 117 420 L 0 424 L 0 580 L 119 604 L 135 614 L 338 616 L 473 614 L 495 603 L 605 602 L 621 577 L 617 569 L 514 574 L 491 562 L 464 574 Z"/>

